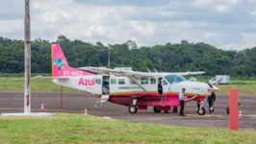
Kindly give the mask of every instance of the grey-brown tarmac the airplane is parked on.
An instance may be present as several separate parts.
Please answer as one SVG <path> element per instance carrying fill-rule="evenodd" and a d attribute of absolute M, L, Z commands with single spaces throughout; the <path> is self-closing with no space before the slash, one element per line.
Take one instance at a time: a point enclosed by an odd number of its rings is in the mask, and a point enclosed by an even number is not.
<path fill-rule="evenodd" d="M 256 131 L 256 97 L 240 96 L 243 118 L 240 119 L 240 130 Z M 0 93 L 0 113 L 23 112 L 23 93 Z M 85 108 L 90 115 L 107 116 L 118 120 L 137 123 L 156 123 L 164 125 L 186 127 L 208 127 L 229 129 L 229 117 L 226 114 L 228 96 L 218 95 L 215 113 L 198 115 L 195 111 L 196 104 L 191 102 L 185 106 L 186 117 L 180 117 L 178 113 L 154 113 L 153 108 L 139 110 L 136 114 L 130 114 L 128 108 L 112 103 L 105 103 L 102 108 L 94 108 L 96 98 L 88 93 L 64 93 L 63 108 L 61 108 L 60 93 L 37 92 L 32 93 L 32 111 L 41 111 L 40 105 L 44 104 L 47 112 L 72 112 L 84 114 Z"/>

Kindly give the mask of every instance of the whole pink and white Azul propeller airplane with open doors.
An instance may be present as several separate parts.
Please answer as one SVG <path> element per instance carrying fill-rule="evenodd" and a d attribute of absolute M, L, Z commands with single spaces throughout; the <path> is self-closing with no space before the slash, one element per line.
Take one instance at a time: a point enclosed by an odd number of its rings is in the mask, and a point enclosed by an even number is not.
<path fill-rule="evenodd" d="M 58 43 L 52 43 L 52 79 L 55 84 L 90 92 L 98 98 L 95 107 L 102 107 L 105 102 L 112 102 L 128 107 L 130 113 L 138 109 L 154 107 L 154 112 L 167 112 L 171 107 L 178 107 L 179 92 L 186 88 L 185 104 L 195 101 L 197 113 L 204 115 L 203 101 L 217 85 L 209 82 L 188 81 L 183 76 L 204 74 L 204 72 L 138 72 L 125 69 L 102 67 L 72 68 L 64 57 Z"/>

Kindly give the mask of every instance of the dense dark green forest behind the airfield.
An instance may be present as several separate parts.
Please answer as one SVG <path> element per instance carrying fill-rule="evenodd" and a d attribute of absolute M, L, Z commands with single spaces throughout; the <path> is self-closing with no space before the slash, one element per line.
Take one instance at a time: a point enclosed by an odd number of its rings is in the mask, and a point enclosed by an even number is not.
<path fill-rule="evenodd" d="M 166 43 L 152 47 L 138 47 L 135 41 L 121 44 L 92 44 L 78 39 L 58 36 L 64 55 L 72 67 L 129 66 L 133 70 L 147 71 L 146 67 L 165 72 L 205 71 L 208 76 L 229 74 L 233 77 L 256 76 L 256 47 L 243 51 L 224 51 L 209 44 Z M 36 39 L 31 46 L 32 73 L 51 73 L 50 42 Z M 0 72 L 24 72 L 24 41 L 0 37 Z"/>

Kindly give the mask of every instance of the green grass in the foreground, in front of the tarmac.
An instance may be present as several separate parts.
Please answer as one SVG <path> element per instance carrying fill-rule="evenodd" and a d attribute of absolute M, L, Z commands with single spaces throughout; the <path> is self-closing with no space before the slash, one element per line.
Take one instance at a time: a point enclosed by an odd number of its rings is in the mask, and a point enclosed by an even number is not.
<path fill-rule="evenodd" d="M 0 143 L 255 143 L 256 132 L 129 123 L 82 114 L 0 117 Z"/>

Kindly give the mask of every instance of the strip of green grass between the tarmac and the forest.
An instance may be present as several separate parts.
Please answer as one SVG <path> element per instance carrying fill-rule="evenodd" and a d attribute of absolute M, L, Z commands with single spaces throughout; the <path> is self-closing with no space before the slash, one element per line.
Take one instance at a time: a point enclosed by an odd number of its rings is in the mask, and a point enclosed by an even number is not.
<path fill-rule="evenodd" d="M 231 81 L 231 84 L 218 85 L 217 94 L 228 95 L 230 88 L 238 88 L 240 94 L 256 95 L 256 81 Z M 34 92 L 60 92 L 61 86 L 51 80 L 33 80 L 31 88 Z M 23 92 L 24 80 L 22 77 L 0 77 L 0 92 Z M 64 87 L 64 92 L 82 92 L 80 90 Z"/>

